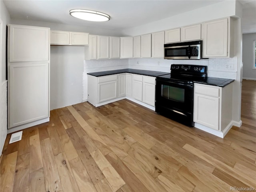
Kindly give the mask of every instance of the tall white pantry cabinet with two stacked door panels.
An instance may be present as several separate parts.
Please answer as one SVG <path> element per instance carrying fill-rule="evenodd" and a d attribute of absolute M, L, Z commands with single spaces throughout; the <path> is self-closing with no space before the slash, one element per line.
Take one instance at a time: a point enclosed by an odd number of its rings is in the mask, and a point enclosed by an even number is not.
<path fill-rule="evenodd" d="M 50 28 L 8 25 L 8 132 L 50 120 Z"/>

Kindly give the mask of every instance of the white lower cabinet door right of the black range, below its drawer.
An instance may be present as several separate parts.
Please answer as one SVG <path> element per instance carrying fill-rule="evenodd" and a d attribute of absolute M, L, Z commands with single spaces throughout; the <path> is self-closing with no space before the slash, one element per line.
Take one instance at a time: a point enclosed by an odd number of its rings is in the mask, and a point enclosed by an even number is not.
<path fill-rule="evenodd" d="M 219 98 L 194 94 L 194 122 L 219 130 Z"/>

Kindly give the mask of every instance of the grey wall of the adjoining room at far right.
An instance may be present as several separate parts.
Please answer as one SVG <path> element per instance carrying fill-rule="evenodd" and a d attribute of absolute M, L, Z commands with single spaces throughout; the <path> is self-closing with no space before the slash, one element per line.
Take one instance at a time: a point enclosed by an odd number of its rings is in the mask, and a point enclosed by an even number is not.
<path fill-rule="evenodd" d="M 256 40 L 256 33 L 243 34 L 243 79 L 256 80 L 256 69 L 252 68 L 255 64 L 253 60 L 254 40 Z"/>

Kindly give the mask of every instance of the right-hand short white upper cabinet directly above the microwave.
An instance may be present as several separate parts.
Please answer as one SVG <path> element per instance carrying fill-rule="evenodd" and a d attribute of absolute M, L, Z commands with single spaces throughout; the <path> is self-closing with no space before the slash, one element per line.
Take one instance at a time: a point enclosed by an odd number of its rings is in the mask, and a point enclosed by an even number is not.
<path fill-rule="evenodd" d="M 193 41 L 201 39 L 201 24 L 181 28 L 181 41 Z"/>

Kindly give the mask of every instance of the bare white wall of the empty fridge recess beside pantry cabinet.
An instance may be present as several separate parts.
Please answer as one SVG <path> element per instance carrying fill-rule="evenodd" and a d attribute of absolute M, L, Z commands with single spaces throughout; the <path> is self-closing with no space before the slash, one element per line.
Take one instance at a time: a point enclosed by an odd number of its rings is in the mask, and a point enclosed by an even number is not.
<path fill-rule="evenodd" d="M 84 46 L 51 46 L 50 110 L 82 102 Z"/>

